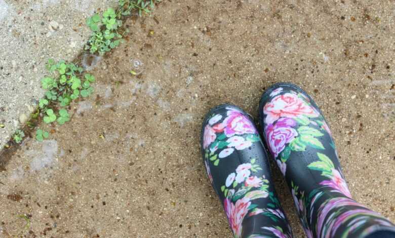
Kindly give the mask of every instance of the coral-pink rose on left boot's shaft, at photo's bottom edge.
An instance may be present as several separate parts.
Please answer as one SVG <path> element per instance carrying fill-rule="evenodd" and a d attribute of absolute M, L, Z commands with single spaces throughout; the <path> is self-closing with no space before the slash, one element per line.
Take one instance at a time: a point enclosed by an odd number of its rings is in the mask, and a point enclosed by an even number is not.
<path fill-rule="evenodd" d="M 230 199 L 224 200 L 224 208 L 226 216 L 228 217 L 230 228 L 233 231 L 235 237 L 240 237 L 242 234 L 242 222 L 244 217 L 248 213 L 248 207 L 251 202 L 246 197 L 239 199 L 235 204 L 230 202 Z"/>

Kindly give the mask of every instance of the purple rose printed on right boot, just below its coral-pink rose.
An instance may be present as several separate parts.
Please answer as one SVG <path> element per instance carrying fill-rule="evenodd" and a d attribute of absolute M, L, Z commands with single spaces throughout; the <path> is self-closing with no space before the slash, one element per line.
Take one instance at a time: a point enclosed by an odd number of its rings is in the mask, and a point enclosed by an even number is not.
<path fill-rule="evenodd" d="M 293 119 L 280 118 L 274 126 L 270 124 L 266 128 L 267 144 L 274 158 L 277 158 L 287 143 L 298 136 L 296 130 L 292 128 L 294 126 L 296 126 L 296 122 Z"/>

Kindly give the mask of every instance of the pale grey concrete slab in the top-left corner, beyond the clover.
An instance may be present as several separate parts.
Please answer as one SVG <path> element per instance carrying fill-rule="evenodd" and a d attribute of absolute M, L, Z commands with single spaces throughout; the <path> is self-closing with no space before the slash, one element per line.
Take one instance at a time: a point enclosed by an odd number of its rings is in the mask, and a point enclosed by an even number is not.
<path fill-rule="evenodd" d="M 49 58 L 72 60 L 90 30 L 85 19 L 116 0 L 0 0 L 0 148 L 43 96 Z"/>

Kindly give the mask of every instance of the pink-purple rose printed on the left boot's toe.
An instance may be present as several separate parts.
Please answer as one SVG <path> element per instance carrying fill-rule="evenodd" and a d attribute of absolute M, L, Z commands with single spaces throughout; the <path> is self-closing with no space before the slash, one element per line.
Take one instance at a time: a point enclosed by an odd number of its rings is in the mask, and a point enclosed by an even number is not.
<path fill-rule="evenodd" d="M 256 133 L 256 129 L 249 118 L 237 110 L 231 109 L 227 111 L 227 117 L 223 121 L 223 124 L 226 125 L 224 132 L 227 137 Z"/>

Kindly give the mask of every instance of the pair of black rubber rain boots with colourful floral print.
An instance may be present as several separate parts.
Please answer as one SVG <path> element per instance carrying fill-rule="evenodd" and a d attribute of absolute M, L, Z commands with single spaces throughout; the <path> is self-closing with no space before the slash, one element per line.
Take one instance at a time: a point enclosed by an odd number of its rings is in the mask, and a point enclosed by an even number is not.
<path fill-rule="evenodd" d="M 394 225 L 351 198 L 331 131 L 299 87 L 280 83 L 263 93 L 261 135 L 249 114 L 223 104 L 202 128 L 202 154 L 234 237 L 293 237 L 274 191 L 268 155 L 291 190 L 307 237 L 395 237 Z"/>

